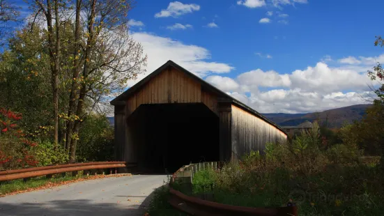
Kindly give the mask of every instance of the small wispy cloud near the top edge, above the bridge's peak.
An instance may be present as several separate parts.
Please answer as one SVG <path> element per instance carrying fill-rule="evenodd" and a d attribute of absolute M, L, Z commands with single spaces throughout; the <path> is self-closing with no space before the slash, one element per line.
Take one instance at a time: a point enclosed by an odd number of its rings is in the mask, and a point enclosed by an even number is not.
<path fill-rule="evenodd" d="M 155 17 L 178 17 L 186 13 L 200 10 L 200 6 L 194 3 L 181 3 L 180 1 L 170 2 L 167 9 L 155 14 Z"/>

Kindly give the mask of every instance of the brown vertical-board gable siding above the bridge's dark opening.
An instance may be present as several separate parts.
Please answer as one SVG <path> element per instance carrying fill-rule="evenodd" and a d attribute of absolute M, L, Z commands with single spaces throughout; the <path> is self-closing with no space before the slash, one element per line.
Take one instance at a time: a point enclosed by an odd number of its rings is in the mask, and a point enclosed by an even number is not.
<path fill-rule="evenodd" d="M 217 114 L 217 96 L 201 90 L 201 84 L 184 72 L 167 68 L 127 100 L 127 114 L 143 104 L 203 102 Z"/>

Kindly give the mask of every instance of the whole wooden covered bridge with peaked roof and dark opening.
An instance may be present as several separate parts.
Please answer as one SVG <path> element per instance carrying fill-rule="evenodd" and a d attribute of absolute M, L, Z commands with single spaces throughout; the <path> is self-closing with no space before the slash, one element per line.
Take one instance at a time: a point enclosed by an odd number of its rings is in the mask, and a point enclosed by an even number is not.
<path fill-rule="evenodd" d="M 173 61 L 111 101 L 117 160 L 144 171 L 238 160 L 286 132 Z"/>

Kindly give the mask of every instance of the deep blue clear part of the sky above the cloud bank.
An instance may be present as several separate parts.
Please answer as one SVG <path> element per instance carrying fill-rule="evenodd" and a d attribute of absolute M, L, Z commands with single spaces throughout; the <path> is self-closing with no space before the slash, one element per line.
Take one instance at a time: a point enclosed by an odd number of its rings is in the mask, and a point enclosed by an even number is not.
<path fill-rule="evenodd" d="M 382 52 L 373 45 L 374 36 L 383 32 L 379 20 L 384 1 L 380 0 L 314 0 L 282 8 L 268 5 L 268 1 L 259 8 L 240 6 L 236 0 L 180 2 L 197 4 L 200 9 L 178 17 L 155 18 L 155 13 L 167 8 L 170 1 L 139 0 L 130 17 L 143 22 L 144 31 L 205 47 L 210 51 L 211 61 L 235 66 L 233 75 L 254 68 L 291 72 L 314 65 L 325 55 L 341 59 Z M 267 16 L 268 11 L 274 15 Z M 277 13 L 289 17 L 282 19 Z M 264 17 L 271 22 L 260 24 Z M 203 27 L 209 22 L 219 27 Z M 175 23 L 193 27 L 185 31 L 164 28 Z M 270 54 L 272 59 L 260 58 L 255 53 Z"/>

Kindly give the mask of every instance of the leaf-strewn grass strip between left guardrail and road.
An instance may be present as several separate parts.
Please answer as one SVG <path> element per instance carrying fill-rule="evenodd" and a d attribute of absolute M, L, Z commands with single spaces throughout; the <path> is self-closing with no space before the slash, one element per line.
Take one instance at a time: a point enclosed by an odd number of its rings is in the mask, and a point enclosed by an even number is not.
<path fill-rule="evenodd" d="M 43 187 L 49 183 L 61 183 L 66 180 L 75 180 L 79 178 L 89 178 L 89 176 L 82 176 L 81 173 L 77 176 L 70 176 L 70 173 L 67 173 L 66 176 L 56 175 L 54 178 L 46 178 L 45 176 L 40 176 L 36 178 L 31 178 L 24 182 L 22 179 L 11 180 L 8 182 L 2 182 L 0 184 L 0 196 L 9 194 L 12 192 L 18 192 L 22 190 L 28 190 L 38 187 Z M 55 178 L 56 177 L 56 178 Z"/>

